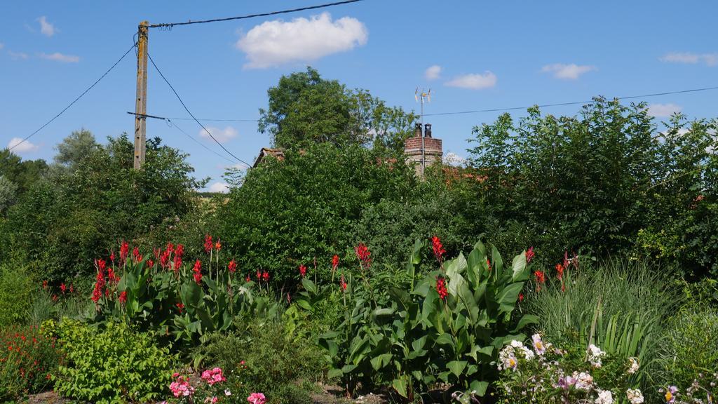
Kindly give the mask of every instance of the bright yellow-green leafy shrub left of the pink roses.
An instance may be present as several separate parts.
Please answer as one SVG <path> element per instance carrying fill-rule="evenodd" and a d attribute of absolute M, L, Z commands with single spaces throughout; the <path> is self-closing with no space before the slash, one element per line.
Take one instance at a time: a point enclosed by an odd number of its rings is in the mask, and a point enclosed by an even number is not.
<path fill-rule="evenodd" d="M 154 336 L 124 323 L 95 329 L 63 319 L 57 335 L 67 364 L 53 380 L 65 397 L 92 403 L 148 402 L 161 398 L 172 379 L 168 349 L 154 346 Z"/>

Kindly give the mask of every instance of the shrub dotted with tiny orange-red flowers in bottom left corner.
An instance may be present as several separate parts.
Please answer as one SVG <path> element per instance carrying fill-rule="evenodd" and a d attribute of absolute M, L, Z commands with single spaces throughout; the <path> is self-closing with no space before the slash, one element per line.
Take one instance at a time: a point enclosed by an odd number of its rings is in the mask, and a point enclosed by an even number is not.
<path fill-rule="evenodd" d="M 55 339 L 37 326 L 8 326 L 0 331 L 0 402 L 52 386 L 60 355 Z"/>

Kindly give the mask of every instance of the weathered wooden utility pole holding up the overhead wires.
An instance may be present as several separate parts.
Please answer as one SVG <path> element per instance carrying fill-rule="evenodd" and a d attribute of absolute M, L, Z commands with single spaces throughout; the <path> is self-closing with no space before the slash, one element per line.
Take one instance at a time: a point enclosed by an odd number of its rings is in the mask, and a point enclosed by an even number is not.
<path fill-rule="evenodd" d="M 139 23 L 137 37 L 137 98 L 135 104 L 135 158 L 134 167 L 139 170 L 144 164 L 146 148 L 147 114 L 147 33 L 149 22 Z"/>

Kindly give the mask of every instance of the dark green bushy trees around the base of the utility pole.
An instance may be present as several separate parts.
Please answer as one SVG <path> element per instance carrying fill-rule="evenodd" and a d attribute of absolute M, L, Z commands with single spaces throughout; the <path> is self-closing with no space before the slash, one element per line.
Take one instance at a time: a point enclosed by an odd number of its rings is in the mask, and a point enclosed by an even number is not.
<path fill-rule="evenodd" d="M 194 205 L 186 155 L 148 142 L 143 170 L 132 167 L 133 145 L 123 135 L 93 147 L 73 173 L 35 183 L 2 222 L 10 234 L 8 255 L 23 254 L 34 273 L 56 285 L 89 275 L 93 257 L 121 239 L 134 239 Z"/>

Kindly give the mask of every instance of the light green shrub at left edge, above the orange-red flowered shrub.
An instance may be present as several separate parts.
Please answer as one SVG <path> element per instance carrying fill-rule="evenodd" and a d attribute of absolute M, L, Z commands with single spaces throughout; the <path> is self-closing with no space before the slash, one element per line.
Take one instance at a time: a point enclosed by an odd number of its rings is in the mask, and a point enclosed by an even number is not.
<path fill-rule="evenodd" d="M 21 265 L 0 266 L 0 327 L 24 323 L 36 286 Z"/>

